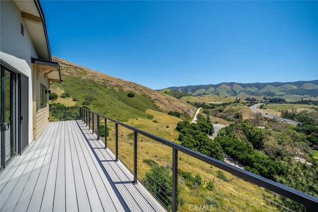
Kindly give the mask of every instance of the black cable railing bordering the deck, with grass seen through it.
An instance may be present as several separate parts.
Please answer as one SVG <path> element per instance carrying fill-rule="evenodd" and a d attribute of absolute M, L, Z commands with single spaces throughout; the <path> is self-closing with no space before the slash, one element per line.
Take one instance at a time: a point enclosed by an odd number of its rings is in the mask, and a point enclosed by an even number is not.
<path fill-rule="evenodd" d="M 50 120 L 82 120 L 169 211 L 292 211 L 271 198 L 279 195 L 317 211 L 318 198 L 306 193 L 85 108 L 58 110 L 50 108 Z"/>

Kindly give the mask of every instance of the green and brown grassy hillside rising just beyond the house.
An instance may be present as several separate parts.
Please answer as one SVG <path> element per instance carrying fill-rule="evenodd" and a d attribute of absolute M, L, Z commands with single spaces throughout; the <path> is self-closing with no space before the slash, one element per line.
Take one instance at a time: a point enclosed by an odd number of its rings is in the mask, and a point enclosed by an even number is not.
<path fill-rule="evenodd" d="M 63 82 L 54 84 L 52 92 L 60 95 L 67 91 L 71 94 L 71 98 L 59 97 L 56 102 L 82 106 L 83 102 L 88 101 L 90 104 L 87 107 L 90 109 L 120 121 L 147 118 L 147 109 L 191 115 L 195 111 L 192 105 L 137 83 L 92 71 L 59 58 L 53 57 L 53 60 L 60 64 Z M 135 97 L 127 97 L 129 92 L 134 93 Z M 73 98 L 78 101 L 72 102 Z"/>

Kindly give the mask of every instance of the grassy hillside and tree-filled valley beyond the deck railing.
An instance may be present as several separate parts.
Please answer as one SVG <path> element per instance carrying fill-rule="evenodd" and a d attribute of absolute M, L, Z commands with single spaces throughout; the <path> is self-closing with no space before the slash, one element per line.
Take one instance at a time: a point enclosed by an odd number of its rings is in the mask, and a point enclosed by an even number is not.
<path fill-rule="evenodd" d="M 315 126 L 318 125 L 318 106 L 315 104 L 315 97 L 304 98 L 309 104 L 294 104 L 289 100 L 278 104 L 269 102 L 270 98 L 275 98 L 270 96 L 245 95 L 243 98 L 242 95 L 218 96 L 212 92 L 205 95 L 199 95 L 199 92 L 178 95 L 179 91 L 168 92 L 168 89 L 165 89 L 159 92 L 134 82 L 79 67 L 62 59 L 54 60 L 60 63 L 63 82 L 51 87 L 51 94 L 55 93 L 56 98 L 51 98 L 50 95 L 50 107 L 63 105 L 88 108 L 168 141 L 205 152 L 212 157 L 217 154 L 221 160 L 232 163 L 236 161 L 234 163 L 240 164 L 245 170 L 317 195 L 318 161 L 315 157 L 318 151 L 318 132 L 315 131 Z M 302 89 L 306 90 L 310 83 L 305 85 Z M 239 88 L 232 85 L 231 89 L 234 89 L 233 86 Z M 211 88 L 208 92 L 212 90 Z M 264 107 L 260 108 L 258 102 L 262 102 Z M 253 107 L 256 111 L 251 109 Z M 190 124 L 195 118 L 196 121 Z M 302 124 L 292 125 L 284 120 Z M 189 140 L 182 140 L 181 132 L 187 130 L 177 129 L 183 122 L 189 124 L 191 127 L 188 129 L 193 128 L 195 134 L 200 134 L 197 137 L 200 144 L 188 145 L 191 142 L 187 141 L 196 141 L 192 140 L 189 134 L 183 136 L 189 137 Z M 108 124 L 107 128 L 108 145 L 114 150 L 115 125 Z M 213 134 L 213 131 L 217 130 L 218 134 Z M 207 134 L 211 134 L 210 138 L 213 140 L 209 139 Z M 147 173 L 157 165 L 170 173 L 171 149 L 141 135 L 138 139 L 138 178 L 145 179 Z M 206 144 L 202 144 L 205 142 Z M 130 170 L 133 170 L 132 143 L 132 132 L 119 128 L 119 158 Z M 231 145 L 228 145 L 229 143 Z M 207 148 L 210 145 L 218 146 L 218 150 L 213 152 Z M 295 157 L 309 163 L 296 161 Z M 183 153 L 179 155 L 179 161 L 181 211 L 186 210 L 189 204 L 197 203 L 211 203 L 219 211 L 241 211 L 242 208 L 250 211 L 278 210 L 279 207 L 271 201 L 294 207 L 293 209 L 299 207 Z M 302 173 L 302 178 L 295 173 Z M 198 181 L 193 181 L 195 177 Z M 239 194 L 244 194 L 244 197 Z"/>

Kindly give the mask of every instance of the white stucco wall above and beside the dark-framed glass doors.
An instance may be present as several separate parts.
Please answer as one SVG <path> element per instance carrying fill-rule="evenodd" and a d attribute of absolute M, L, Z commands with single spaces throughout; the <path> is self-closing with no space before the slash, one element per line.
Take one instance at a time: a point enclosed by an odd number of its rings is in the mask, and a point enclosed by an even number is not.
<path fill-rule="evenodd" d="M 24 36 L 21 34 L 21 23 Z M 29 142 L 32 129 L 32 65 L 31 56 L 38 58 L 26 23 L 14 1 L 0 0 L 0 59 L 29 78 Z M 23 105 L 22 105 L 23 107 Z"/>

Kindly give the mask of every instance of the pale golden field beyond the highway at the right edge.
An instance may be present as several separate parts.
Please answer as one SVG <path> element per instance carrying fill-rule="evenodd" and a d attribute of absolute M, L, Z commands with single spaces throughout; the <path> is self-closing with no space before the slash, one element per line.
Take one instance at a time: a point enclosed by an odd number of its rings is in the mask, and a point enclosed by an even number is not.
<path fill-rule="evenodd" d="M 297 112 L 301 110 L 315 110 L 317 105 L 302 105 L 302 104 L 268 104 L 265 105 L 266 109 L 259 109 L 264 113 L 268 113 L 274 116 L 281 116 L 281 112 L 284 110 L 295 109 Z"/>

